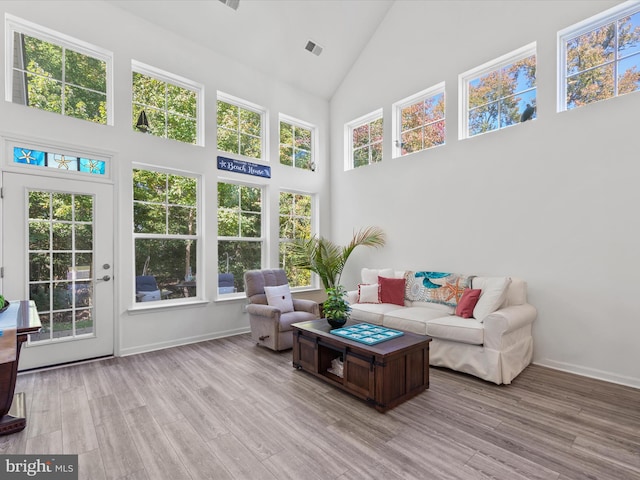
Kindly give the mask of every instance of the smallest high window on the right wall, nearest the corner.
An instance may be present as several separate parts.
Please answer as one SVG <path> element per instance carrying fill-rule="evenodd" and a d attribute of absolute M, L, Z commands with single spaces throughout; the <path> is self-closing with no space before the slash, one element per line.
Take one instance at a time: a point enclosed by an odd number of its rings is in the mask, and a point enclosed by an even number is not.
<path fill-rule="evenodd" d="M 345 170 L 382 161 L 384 124 L 382 109 L 345 125 Z"/>

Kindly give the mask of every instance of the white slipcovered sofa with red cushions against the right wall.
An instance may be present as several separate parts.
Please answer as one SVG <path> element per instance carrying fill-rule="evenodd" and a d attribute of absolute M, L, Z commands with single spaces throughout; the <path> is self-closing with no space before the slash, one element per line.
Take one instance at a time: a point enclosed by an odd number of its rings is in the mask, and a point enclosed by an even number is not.
<path fill-rule="evenodd" d="M 358 303 L 358 291 L 350 291 L 347 295 L 351 319 L 429 335 L 433 338 L 429 357 L 431 365 L 469 373 L 496 384 L 511 383 L 531 363 L 531 327 L 537 311 L 527 303 L 526 282 L 509 277 L 461 274 L 443 274 L 450 277 L 429 280 L 416 273 L 433 272 L 362 269 L 361 285 L 377 283 L 378 276 L 404 278 L 404 305 Z M 452 279 L 456 279 L 455 282 Z M 438 287 L 444 285 L 449 291 L 457 289 L 457 296 L 448 301 L 444 301 L 444 297 L 422 298 L 421 281 L 431 285 L 431 281 L 439 283 Z M 474 308 L 474 316 L 479 318 L 455 315 L 463 287 L 482 290 Z M 427 289 L 424 291 L 431 293 Z M 366 300 L 371 301 L 371 298 Z"/>

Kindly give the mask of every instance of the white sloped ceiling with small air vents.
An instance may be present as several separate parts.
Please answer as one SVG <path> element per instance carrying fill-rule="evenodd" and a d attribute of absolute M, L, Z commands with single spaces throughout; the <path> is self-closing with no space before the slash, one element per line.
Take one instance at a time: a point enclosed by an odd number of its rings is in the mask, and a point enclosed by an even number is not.
<path fill-rule="evenodd" d="M 395 0 L 106 0 L 301 90 L 329 99 Z M 323 47 L 318 57 L 308 40 Z"/>

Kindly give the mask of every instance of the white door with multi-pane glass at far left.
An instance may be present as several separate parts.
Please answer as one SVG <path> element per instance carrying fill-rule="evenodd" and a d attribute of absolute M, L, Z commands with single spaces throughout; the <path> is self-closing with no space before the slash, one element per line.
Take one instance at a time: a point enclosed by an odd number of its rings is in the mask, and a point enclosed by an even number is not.
<path fill-rule="evenodd" d="M 20 370 L 113 354 L 113 187 L 7 172 L 2 184 L 2 293 L 33 300 L 42 322 Z"/>

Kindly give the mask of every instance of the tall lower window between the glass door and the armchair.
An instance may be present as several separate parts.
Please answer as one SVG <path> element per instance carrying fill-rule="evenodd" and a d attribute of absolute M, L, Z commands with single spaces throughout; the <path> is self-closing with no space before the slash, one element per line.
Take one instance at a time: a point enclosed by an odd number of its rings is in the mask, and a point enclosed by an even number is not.
<path fill-rule="evenodd" d="M 197 296 L 197 205 L 196 178 L 133 170 L 137 302 Z"/>

